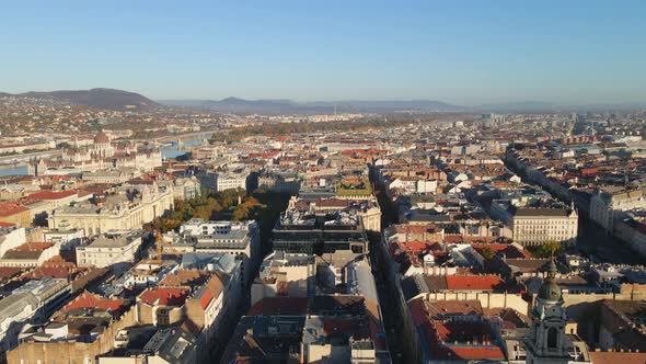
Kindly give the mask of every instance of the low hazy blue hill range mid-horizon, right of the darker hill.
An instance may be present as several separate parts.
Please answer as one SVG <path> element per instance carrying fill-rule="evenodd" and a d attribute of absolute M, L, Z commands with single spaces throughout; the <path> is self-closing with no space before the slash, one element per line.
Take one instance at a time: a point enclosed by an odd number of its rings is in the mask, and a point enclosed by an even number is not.
<path fill-rule="evenodd" d="M 163 100 L 165 105 L 199 107 L 233 114 L 330 114 L 336 107 L 338 113 L 393 113 L 401 111 L 453 112 L 465 107 L 430 100 L 412 101 L 314 101 L 291 100 L 244 100 L 227 98 L 216 100 Z"/>

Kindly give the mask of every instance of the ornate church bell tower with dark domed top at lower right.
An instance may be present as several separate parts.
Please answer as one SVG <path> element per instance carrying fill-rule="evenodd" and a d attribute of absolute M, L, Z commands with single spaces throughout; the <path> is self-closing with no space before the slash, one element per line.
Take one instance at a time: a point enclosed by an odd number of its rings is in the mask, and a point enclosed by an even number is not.
<path fill-rule="evenodd" d="M 539 291 L 534 308 L 530 312 L 532 327 L 527 344 L 528 364 L 557 364 L 572 361 L 568 353 L 568 338 L 565 334 L 567 321 L 561 287 L 556 284 L 556 264 L 550 261 L 547 277 Z"/>

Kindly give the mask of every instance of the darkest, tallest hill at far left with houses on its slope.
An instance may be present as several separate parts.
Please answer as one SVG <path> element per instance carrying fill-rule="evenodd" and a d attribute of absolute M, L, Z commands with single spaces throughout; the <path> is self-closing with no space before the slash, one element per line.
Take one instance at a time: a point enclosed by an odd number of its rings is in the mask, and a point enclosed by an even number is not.
<path fill-rule="evenodd" d="M 162 107 L 157 102 L 135 92 L 113 89 L 91 89 L 79 91 L 31 91 L 25 93 L 0 93 L 0 96 L 25 96 L 37 99 L 54 99 L 69 102 L 74 105 L 83 105 L 97 109 L 118 111 L 149 111 Z"/>

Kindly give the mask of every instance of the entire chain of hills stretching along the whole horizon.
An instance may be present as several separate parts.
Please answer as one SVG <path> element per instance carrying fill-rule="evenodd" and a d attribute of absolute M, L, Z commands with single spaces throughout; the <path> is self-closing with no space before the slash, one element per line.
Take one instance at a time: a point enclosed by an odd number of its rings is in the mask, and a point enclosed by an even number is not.
<path fill-rule="evenodd" d="M 288 99 L 247 100 L 229 96 L 222 100 L 187 99 L 153 101 L 140 93 L 94 88 L 90 90 L 28 91 L 23 93 L 0 92 L 0 98 L 41 98 L 116 111 L 150 111 L 165 106 L 182 106 L 232 114 L 330 114 L 337 113 L 396 113 L 396 112 L 585 112 L 644 109 L 644 104 L 581 104 L 566 105 L 545 101 L 518 101 L 489 103 L 475 106 L 454 105 L 442 101 L 412 100 L 347 100 L 298 102 Z"/>

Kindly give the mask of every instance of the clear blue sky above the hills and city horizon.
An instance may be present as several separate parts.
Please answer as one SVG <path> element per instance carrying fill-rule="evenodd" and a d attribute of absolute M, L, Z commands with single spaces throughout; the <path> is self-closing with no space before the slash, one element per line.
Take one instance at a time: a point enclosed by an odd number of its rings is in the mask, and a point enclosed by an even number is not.
<path fill-rule="evenodd" d="M 5 1 L 0 91 L 634 103 L 646 1 Z"/>

